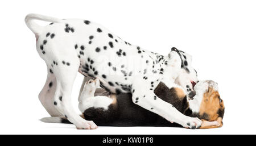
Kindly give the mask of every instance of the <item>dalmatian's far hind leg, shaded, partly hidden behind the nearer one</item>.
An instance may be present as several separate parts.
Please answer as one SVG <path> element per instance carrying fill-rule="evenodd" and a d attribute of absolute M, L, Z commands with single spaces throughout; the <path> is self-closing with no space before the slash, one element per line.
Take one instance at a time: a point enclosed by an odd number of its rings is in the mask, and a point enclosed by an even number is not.
<path fill-rule="evenodd" d="M 54 74 L 47 74 L 46 84 L 44 84 L 43 89 L 39 93 L 39 100 L 44 106 L 44 109 L 51 116 L 61 116 L 62 114 L 56 109 L 56 107 L 52 104 L 54 102 L 54 95 L 56 91 L 56 78 Z"/>

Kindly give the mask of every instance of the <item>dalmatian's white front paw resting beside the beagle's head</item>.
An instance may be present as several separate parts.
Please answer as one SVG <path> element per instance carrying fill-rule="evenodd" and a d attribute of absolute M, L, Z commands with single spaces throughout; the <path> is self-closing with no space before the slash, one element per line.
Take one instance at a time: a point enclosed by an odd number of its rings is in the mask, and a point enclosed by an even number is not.
<path fill-rule="evenodd" d="M 187 116 L 184 120 L 183 127 L 190 129 L 199 129 L 202 125 L 202 121 L 199 118 L 191 118 Z"/>

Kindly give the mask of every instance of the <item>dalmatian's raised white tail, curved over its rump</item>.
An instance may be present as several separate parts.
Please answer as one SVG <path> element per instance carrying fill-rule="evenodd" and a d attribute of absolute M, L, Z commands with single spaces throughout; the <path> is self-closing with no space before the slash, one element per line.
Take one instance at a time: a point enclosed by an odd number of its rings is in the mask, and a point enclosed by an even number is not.
<path fill-rule="evenodd" d="M 36 36 L 38 36 L 40 32 L 43 31 L 43 26 L 39 26 L 32 20 L 42 20 L 53 23 L 60 23 L 61 21 L 61 19 L 53 18 L 51 16 L 44 16 L 40 14 L 28 14 L 25 18 L 25 23 L 27 24 L 27 27 L 30 28 L 30 30 L 34 32 Z"/>

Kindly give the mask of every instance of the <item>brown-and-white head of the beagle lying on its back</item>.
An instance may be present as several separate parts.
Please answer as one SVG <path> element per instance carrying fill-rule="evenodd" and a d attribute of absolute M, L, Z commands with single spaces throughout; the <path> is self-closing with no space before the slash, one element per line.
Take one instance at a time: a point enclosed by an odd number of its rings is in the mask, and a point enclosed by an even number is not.
<path fill-rule="evenodd" d="M 224 102 L 218 93 L 218 85 L 214 81 L 199 81 L 194 87 L 195 98 L 189 100 L 189 108 L 193 114 L 203 120 L 201 128 L 222 127 Z"/>

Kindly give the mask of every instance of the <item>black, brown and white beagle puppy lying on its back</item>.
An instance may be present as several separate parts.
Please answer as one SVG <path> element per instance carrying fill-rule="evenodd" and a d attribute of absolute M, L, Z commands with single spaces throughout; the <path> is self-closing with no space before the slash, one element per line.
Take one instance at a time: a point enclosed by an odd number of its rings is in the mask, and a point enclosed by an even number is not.
<path fill-rule="evenodd" d="M 82 117 L 86 120 L 93 120 L 97 126 L 182 127 L 135 105 L 131 100 L 131 94 L 108 93 L 103 89 L 97 89 L 99 85 L 97 79 L 86 82 L 86 91 L 81 94 L 79 103 L 79 109 L 83 112 Z M 222 127 L 225 107 L 218 93 L 217 83 L 199 81 L 194 90 L 196 91 L 194 99 L 188 100 L 181 87 L 169 89 L 163 82 L 160 82 L 154 93 L 163 101 L 171 103 L 184 115 L 203 120 L 200 128 Z M 41 121 L 70 123 L 66 118 L 60 117 L 43 118 Z"/>

